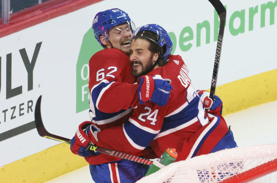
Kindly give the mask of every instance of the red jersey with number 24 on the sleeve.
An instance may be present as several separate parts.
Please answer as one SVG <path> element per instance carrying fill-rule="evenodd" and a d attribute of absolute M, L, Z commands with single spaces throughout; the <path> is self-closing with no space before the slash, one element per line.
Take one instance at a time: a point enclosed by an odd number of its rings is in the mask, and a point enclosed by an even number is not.
<path fill-rule="evenodd" d="M 101 129 L 96 145 L 132 154 L 150 144 L 158 157 L 170 147 L 176 149 L 177 161 L 211 152 L 227 133 L 228 127 L 221 116 L 205 115 L 203 103 L 190 83 L 184 61 L 179 55 L 171 55 L 165 66 L 154 69 L 148 75 L 156 74 L 172 81 L 173 91 L 167 105 L 159 107 L 151 101 L 137 105 L 124 124 Z M 121 83 L 123 88 L 118 87 L 113 92 L 116 95 L 117 91 L 128 86 Z M 127 100 L 134 97 L 133 93 L 126 92 L 125 95 Z M 127 102 L 130 103 L 134 104 L 134 101 Z M 92 157 L 91 163 L 97 158 Z"/>

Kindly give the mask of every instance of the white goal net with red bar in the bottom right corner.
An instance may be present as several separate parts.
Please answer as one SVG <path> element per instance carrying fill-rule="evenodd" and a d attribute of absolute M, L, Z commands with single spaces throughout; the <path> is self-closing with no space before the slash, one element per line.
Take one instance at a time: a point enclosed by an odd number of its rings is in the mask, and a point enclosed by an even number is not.
<path fill-rule="evenodd" d="M 137 181 L 143 182 L 277 182 L 277 143 L 175 162 Z"/>

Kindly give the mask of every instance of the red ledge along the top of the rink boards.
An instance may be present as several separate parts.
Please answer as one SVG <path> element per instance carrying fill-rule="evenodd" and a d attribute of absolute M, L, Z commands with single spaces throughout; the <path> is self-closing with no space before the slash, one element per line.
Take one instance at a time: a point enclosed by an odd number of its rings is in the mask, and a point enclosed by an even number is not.
<path fill-rule="evenodd" d="M 2 24 L 0 18 L 0 38 L 100 1 L 104 0 L 50 0 L 26 8 L 11 14 L 9 23 Z"/>

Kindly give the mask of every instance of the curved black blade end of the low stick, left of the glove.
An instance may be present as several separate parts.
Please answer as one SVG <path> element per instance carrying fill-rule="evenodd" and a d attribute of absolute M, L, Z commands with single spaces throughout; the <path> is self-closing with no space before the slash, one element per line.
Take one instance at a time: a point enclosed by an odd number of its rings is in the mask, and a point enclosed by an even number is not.
<path fill-rule="evenodd" d="M 45 129 L 45 127 L 43 125 L 43 122 L 42 122 L 41 113 L 40 113 L 41 97 L 42 96 L 40 96 L 38 98 L 37 103 L 35 104 L 35 126 L 38 130 L 38 134 L 41 137 L 45 137 L 45 138 L 48 138 L 48 139 L 53 139 L 53 140 L 56 140 L 56 141 L 60 141 L 60 142 L 63 142 L 63 143 L 70 144 L 70 139 L 60 137 L 60 136 L 57 136 L 57 135 L 53 135 Z"/>

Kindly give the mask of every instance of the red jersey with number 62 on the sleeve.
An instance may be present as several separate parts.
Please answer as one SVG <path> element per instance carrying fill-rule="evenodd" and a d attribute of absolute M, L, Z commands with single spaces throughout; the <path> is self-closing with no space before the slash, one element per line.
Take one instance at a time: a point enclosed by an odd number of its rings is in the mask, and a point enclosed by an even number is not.
<path fill-rule="evenodd" d="M 129 56 L 116 48 L 95 53 L 89 60 L 89 91 L 91 121 L 101 130 L 122 125 L 139 104 L 138 85 L 132 74 Z M 104 112 L 103 112 L 104 111 Z M 140 156 L 142 152 L 131 153 Z M 102 164 L 120 160 L 107 154 L 85 158 L 88 163 Z"/>

